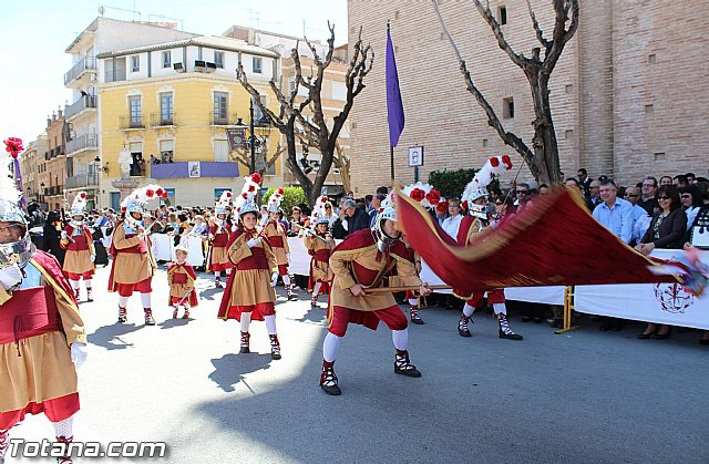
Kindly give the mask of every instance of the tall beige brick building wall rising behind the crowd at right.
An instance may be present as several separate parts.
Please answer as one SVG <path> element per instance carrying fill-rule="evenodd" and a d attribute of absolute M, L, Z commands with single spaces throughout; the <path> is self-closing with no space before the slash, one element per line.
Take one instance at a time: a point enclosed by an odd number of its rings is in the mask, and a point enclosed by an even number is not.
<path fill-rule="evenodd" d="M 515 51 L 528 55 L 537 43 L 526 1 L 491 0 L 490 4 L 495 12 L 500 6 L 506 7 L 505 38 Z M 533 0 L 532 6 L 548 37 L 553 29 L 551 2 Z M 440 8 L 475 84 L 501 118 L 503 99 L 514 99 L 515 117 L 503 120 L 503 124 L 531 145 L 534 113 L 526 78 L 500 50 L 472 2 L 442 0 Z M 397 181 L 413 181 L 413 169 L 405 165 L 407 148 L 413 145 L 425 147 L 423 181 L 430 171 L 477 167 L 496 154 L 511 154 L 520 166 L 521 157 L 504 146 L 465 90 L 430 0 L 349 0 L 348 18 L 349 43 L 354 42 L 361 25 L 364 41 L 371 42 L 376 53 L 367 89 L 356 101 L 350 120 L 351 174 L 359 194 L 388 185 L 390 177 L 387 20 L 391 20 L 407 117 L 394 148 Z M 551 81 L 554 125 L 566 176 L 586 167 L 593 177 L 612 175 L 627 185 L 649 173 L 693 169 L 706 174 L 701 149 L 709 138 L 709 80 L 702 69 L 709 66 L 700 65 L 699 53 L 709 41 L 707 30 L 709 2 L 700 0 L 582 2 L 580 27 Z M 653 65 L 648 63 L 651 53 L 656 54 Z M 646 104 L 654 107 L 646 110 Z M 654 161 L 655 153 L 665 153 L 665 161 Z M 526 167 L 520 177 L 531 178 Z"/>

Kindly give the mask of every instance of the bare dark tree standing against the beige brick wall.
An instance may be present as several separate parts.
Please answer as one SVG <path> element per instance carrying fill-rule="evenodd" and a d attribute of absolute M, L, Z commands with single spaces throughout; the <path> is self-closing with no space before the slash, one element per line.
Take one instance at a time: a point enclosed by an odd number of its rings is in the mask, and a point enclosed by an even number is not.
<path fill-rule="evenodd" d="M 497 135 L 500 135 L 500 138 L 502 138 L 506 145 L 510 145 L 520 153 L 520 155 L 522 155 L 535 179 L 543 183 L 562 182 L 558 145 L 556 142 L 556 133 L 554 132 L 552 110 L 549 105 L 548 84 L 552 71 L 554 71 L 554 68 L 564 51 L 564 47 L 574 37 L 578 29 L 578 0 L 552 0 L 555 20 L 551 39 L 544 37 L 544 32 L 536 20 L 534 11 L 532 11 L 532 4 L 530 3 L 530 0 L 527 0 L 532 27 L 534 28 L 537 41 L 544 49 L 544 59 L 541 58 L 542 48 L 540 47 L 532 49 L 532 55 L 530 58 L 525 56 L 523 53 L 516 53 L 505 40 L 502 29 L 500 28 L 500 23 L 495 20 L 493 12 L 490 10 L 490 3 L 486 2 L 483 4 L 480 0 L 472 0 L 482 18 L 492 29 L 500 49 L 507 54 L 514 64 L 520 66 L 530 82 L 535 115 L 534 121 L 532 122 L 532 125 L 534 126 L 532 148 L 530 148 L 517 135 L 505 131 L 493 107 L 487 103 L 484 95 L 473 83 L 473 78 L 467 71 L 465 61 L 462 59 L 453 38 L 445 28 L 443 18 L 439 11 L 438 0 L 432 1 L 433 9 L 435 10 L 435 14 L 441 23 L 441 28 L 451 42 L 453 51 L 458 56 L 461 73 L 465 80 L 467 91 L 473 94 L 480 106 L 485 111 L 485 114 L 487 115 L 487 124 L 497 132 Z M 571 23 L 567 28 L 569 20 Z"/>

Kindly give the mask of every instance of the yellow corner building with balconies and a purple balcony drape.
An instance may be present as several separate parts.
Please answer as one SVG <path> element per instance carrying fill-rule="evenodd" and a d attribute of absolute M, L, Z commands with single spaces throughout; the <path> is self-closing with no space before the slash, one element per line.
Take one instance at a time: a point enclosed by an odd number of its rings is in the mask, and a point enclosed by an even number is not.
<path fill-rule="evenodd" d="M 277 112 L 268 87 L 278 80 L 277 53 L 243 40 L 196 37 L 96 58 L 102 205 L 117 208 L 130 189 L 152 183 L 167 189 L 169 204 L 183 206 L 208 206 L 223 189 L 240 189 L 249 169 L 230 157 L 226 128 L 248 126 L 250 96 L 236 69 L 240 62 Z M 256 126 L 264 149 L 275 153 L 279 132 Z M 277 163 L 264 187 L 281 184 Z"/>

